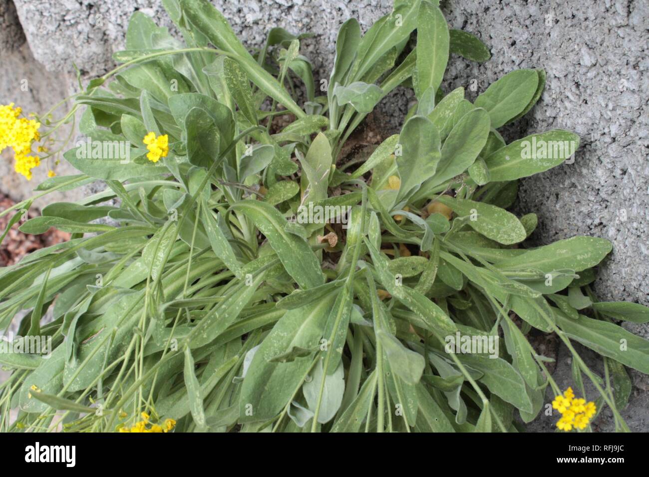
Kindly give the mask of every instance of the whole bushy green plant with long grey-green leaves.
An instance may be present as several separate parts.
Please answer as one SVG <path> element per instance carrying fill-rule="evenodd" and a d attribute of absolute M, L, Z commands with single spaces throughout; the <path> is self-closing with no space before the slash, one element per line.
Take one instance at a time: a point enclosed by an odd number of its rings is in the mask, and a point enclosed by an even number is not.
<path fill-rule="evenodd" d="M 648 310 L 594 297 L 608 241 L 523 248 L 537 219 L 505 210 L 519 178 L 578 144 L 554 130 L 507 145 L 496 130 L 536 103 L 543 71 L 513 71 L 474 103 L 462 88 L 445 95 L 449 52 L 489 51 L 448 31 L 433 2 L 403 0 L 362 36 L 354 19 L 341 27 L 316 96 L 302 36 L 273 29 L 251 55 L 208 2 L 163 3 L 184 43 L 134 14 L 121 66 L 75 96 L 80 129 L 102 147 L 68 151 L 81 174 L 46 180 L 36 197 L 97 179 L 106 190 L 23 223 L 73 235 L 0 271 L 0 326 L 32 310 L 19 334 L 55 347 L 47 360 L 0 353 L 13 370 L 1 430 L 141 429 L 151 415 L 180 431 L 506 432 L 514 410 L 538 415 L 548 385 L 561 395 L 532 328 L 559 336 L 576 388 L 585 395 L 585 374 L 596 409 L 627 429 L 624 366 L 649 373 L 649 342 L 611 319 L 645 323 Z M 424 48 L 406 54 L 415 30 Z M 418 101 L 400 134 L 347 173 L 359 162 L 343 162 L 343 145 L 401 84 Z M 156 162 L 151 133 L 169 143 Z M 128 157 L 104 147 L 125 141 Z M 307 204 L 349 207 L 347 228 L 295 219 Z M 456 336 L 501 333 L 491 357 L 445 350 Z M 604 357 L 603 379 L 572 341 Z"/>

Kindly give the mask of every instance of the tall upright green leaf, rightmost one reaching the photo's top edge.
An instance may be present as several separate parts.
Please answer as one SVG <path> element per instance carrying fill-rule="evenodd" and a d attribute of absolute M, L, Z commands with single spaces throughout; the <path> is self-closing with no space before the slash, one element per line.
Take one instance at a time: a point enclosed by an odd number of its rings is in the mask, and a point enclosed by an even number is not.
<path fill-rule="evenodd" d="M 422 1 L 417 14 L 417 67 L 413 76 L 415 95 L 437 91 L 448 61 L 448 25 L 437 6 Z"/>

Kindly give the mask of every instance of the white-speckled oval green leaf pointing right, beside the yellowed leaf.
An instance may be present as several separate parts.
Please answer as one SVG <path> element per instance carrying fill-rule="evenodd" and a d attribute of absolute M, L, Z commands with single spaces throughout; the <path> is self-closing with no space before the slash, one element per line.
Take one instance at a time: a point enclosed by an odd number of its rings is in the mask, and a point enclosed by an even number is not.
<path fill-rule="evenodd" d="M 500 207 L 484 202 L 453 199 L 447 195 L 438 197 L 437 201 L 452 208 L 461 217 L 471 217 L 467 224 L 473 230 L 498 243 L 511 245 L 523 241 L 527 236 L 519 219 Z"/>

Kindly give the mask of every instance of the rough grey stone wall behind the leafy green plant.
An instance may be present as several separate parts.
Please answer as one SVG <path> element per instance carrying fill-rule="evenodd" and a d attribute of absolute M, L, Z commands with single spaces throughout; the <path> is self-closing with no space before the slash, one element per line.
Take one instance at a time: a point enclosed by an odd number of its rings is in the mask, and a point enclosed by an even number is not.
<path fill-rule="evenodd" d="M 66 73 L 72 71 L 74 62 L 84 78 L 114 66 L 111 55 L 123 48 L 128 19 L 135 10 L 153 16 L 159 25 L 170 26 L 158 0 L 15 2 L 36 61 L 49 71 Z M 274 26 L 315 34 L 302 41 L 302 53 L 313 63 L 316 83 L 328 78 L 341 23 L 354 17 L 365 30 L 392 5 L 391 0 L 213 3 L 248 47 L 262 45 Z M 455 0 L 443 1 L 442 8 L 451 27 L 476 34 L 493 55 L 482 65 L 452 55 L 443 83 L 446 91 L 464 86 L 472 100 L 513 69 L 541 67 L 547 73 L 543 97 L 526 117 L 504 128 L 506 140 L 550 128 L 573 130 L 581 138 L 574 164 L 521 181 L 519 214 L 539 215 L 533 240 L 545 244 L 577 234 L 610 239 L 613 253 L 600 267 L 597 293 L 602 299 L 649 304 L 649 4 L 646 0 Z M 2 12 L 0 7 L 0 25 L 6 21 Z M 21 51 L 25 58 L 30 56 L 25 49 Z M 12 74 L 21 77 L 20 57 L 14 58 L 11 68 L 16 73 Z M 4 67 L 5 57 L 2 60 Z M 36 71 L 38 63 L 28 64 L 32 66 L 27 68 L 34 68 L 32 73 L 41 74 L 40 69 Z M 477 82 L 475 91 L 470 88 L 471 80 Z M 64 97 L 69 84 L 68 78 L 52 75 L 51 85 L 58 86 L 40 97 L 47 101 L 56 95 Z M 0 77 L 0 102 L 15 97 L 7 94 L 7 88 L 15 84 L 7 85 Z M 376 122 L 386 135 L 398 132 L 412 99 L 410 91 L 398 88 L 378 106 Z M 6 176 L 4 170 L 0 174 Z M 6 187 L 0 184 L 2 190 Z M 649 336 L 646 324 L 624 326 Z M 592 352 L 578 349 L 591 369 L 601 373 L 601 361 Z M 555 379 L 567 386 L 572 377 L 565 348 L 559 349 L 557 360 Z M 623 415 L 633 430 L 647 431 L 648 378 L 635 371 L 630 375 L 635 389 Z M 528 429 L 553 430 L 555 421 L 542 415 Z M 598 426 L 613 429 L 606 411 Z"/>

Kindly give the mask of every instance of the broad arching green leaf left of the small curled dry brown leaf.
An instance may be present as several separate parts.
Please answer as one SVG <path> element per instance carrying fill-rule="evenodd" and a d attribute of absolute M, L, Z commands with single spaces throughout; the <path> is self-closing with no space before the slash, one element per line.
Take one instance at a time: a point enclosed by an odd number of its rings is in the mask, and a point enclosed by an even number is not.
<path fill-rule="evenodd" d="M 284 230 L 286 219 L 267 202 L 245 200 L 232 205 L 249 217 L 268 239 L 286 271 L 302 288 L 324 283 L 324 276 L 315 254 L 306 241 Z"/>

